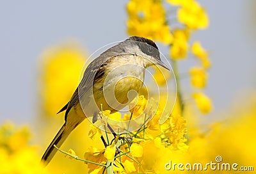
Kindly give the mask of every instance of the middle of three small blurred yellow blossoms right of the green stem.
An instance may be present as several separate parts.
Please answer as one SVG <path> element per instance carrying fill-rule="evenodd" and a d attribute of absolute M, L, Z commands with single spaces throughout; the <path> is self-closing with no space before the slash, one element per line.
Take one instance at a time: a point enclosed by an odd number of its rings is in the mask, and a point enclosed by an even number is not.
<path fill-rule="evenodd" d="M 208 74 L 203 68 L 193 67 L 189 70 L 191 76 L 191 84 L 196 88 L 205 88 Z"/>

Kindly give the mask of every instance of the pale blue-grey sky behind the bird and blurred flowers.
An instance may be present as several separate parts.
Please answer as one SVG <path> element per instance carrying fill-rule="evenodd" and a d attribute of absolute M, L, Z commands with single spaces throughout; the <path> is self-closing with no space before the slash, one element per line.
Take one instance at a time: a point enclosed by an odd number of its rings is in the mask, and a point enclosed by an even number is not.
<path fill-rule="evenodd" d="M 26 123 L 36 116 L 36 68 L 45 48 L 74 38 L 93 52 L 127 38 L 127 1 L 88 2 L 0 2 L 0 123 Z M 206 93 L 219 113 L 230 106 L 236 93 L 256 86 L 256 16 L 252 13 L 256 5 L 253 0 L 200 3 L 207 9 L 210 27 L 196 32 L 193 40 L 200 40 L 211 52 Z"/>

